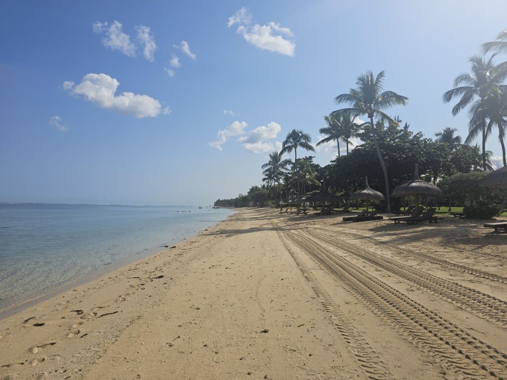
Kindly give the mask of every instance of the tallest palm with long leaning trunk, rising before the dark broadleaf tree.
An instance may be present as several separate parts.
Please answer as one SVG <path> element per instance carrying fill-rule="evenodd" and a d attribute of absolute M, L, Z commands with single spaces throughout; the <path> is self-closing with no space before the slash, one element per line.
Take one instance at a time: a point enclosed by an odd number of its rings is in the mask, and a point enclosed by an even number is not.
<path fill-rule="evenodd" d="M 341 94 L 335 98 L 337 104 L 347 103 L 350 105 L 349 108 L 339 109 L 333 112 L 333 115 L 350 115 L 351 117 L 357 117 L 359 115 L 367 115 L 370 119 L 372 127 L 373 141 L 375 142 L 375 149 L 377 150 L 377 156 L 380 161 L 380 166 L 384 172 L 384 184 L 385 184 L 385 206 L 386 211 L 391 211 L 391 204 L 389 202 L 389 178 L 387 177 L 387 169 L 385 167 L 384 159 L 380 151 L 377 132 L 373 119 L 385 121 L 387 120 L 392 125 L 398 125 L 398 123 L 391 117 L 384 113 L 384 109 L 392 107 L 394 105 L 406 105 L 408 98 L 402 95 L 398 95 L 393 91 L 384 91 L 382 82 L 384 81 L 384 71 L 380 71 L 377 77 L 374 77 L 373 72 L 367 71 L 365 74 L 359 75 L 356 81 L 356 88 L 350 89 L 348 94 Z"/>

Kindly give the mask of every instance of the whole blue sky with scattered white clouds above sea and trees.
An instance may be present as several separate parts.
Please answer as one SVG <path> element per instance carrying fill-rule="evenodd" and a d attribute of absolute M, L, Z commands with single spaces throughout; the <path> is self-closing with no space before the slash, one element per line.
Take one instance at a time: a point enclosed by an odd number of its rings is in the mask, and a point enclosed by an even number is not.
<path fill-rule="evenodd" d="M 236 197 L 289 131 L 317 142 L 367 70 L 409 98 L 389 115 L 465 137 L 442 94 L 506 14 L 500 0 L 3 1 L 0 202 Z M 312 156 L 326 165 L 336 148 Z"/>

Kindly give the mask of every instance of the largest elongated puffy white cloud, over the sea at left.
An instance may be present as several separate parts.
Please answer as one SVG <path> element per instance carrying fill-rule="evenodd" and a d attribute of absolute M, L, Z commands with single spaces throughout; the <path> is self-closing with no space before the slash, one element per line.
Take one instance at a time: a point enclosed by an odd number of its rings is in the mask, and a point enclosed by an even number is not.
<path fill-rule="evenodd" d="M 64 82 L 63 88 L 70 94 L 82 97 L 100 108 L 113 109 L 134 118 L 155 117 L 170 112 L 169 107 L 162 108 L 157 99 L 148 95 L 123 92 L 115 95 L 120 82 L 107 74 L 86 74 L 79 85 Z"/>

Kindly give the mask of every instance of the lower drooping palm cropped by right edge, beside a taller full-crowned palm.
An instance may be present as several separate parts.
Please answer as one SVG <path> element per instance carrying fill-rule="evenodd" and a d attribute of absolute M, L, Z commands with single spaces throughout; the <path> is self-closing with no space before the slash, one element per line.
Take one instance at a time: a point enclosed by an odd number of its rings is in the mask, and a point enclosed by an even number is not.
<path fill-rule="evenodd" d="M 493 126 L 498 128 L 498 140 L 502 148 L 503 166 L 507 166 L 505 157 L 505 134 L 507 133 L 507 89 L 505 86 L 494 86 L 483 102 L 476 102 L 470 107 L 469 134 L 467 143 L 473 141 L 479 134 L 478 128 L 482 125 L 482 117 L 487 118 L 486 138 Z"/>

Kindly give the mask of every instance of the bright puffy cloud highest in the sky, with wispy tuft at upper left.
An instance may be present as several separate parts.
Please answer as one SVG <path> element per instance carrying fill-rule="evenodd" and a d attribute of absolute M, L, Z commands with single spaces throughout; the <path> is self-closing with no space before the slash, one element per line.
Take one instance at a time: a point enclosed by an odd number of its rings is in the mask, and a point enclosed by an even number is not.
<path fill-rule="evenodd" d="M 229 17 L 227 26 L 238 24 L 237 33 L 253 46 L 262 50 L 268 50 L 293 57 L 296 50 L 294 34 L 291 29 L 282 27 L 273 21 L 267 25 L 255 24 L 250 26 L 251 14 L 245 8 L 241 8 L 233 16 Z"/>

